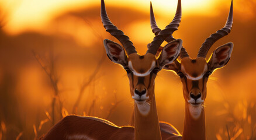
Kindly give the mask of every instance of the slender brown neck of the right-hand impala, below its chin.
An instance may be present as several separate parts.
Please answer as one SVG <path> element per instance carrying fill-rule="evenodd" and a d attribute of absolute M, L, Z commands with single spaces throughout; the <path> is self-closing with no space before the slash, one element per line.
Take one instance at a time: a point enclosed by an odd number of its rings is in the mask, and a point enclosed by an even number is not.
<path fill-rule="evenodd" d="M 206 140 L 205 108 L 199 118 L 194 119 L 189 112 L 189 103 L 185 103 L 185 121 L 182 140 Z"/>

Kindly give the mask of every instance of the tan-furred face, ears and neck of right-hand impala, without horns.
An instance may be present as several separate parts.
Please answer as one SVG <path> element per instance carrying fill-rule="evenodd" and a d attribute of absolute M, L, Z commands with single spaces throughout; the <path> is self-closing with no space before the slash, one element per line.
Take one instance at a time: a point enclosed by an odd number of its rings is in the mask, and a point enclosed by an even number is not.
<path fill-rule="evenodd" d="M 224 67 L 229 62 L 232 48 L 232 43 L 220 46 L 213 52 L 208 62 L 203 57 L 198 57 L 195 60 L 184 57 L 181 62 L 175 61 L 165 67 L 165 69 L 175 71 L 181 76 L 185 99 L 185 121 L 182 140 L 206 139 L 204 102 L 207 95 L 207 76 L 216 68 Z M 193 96 L 201 95 L 199 99 L 196 99 L 196 101 L 199 100 L 200 104 L 193 104 L 195 99 L 191 100 L 191 94 Z"/>

